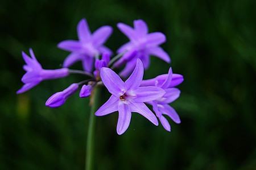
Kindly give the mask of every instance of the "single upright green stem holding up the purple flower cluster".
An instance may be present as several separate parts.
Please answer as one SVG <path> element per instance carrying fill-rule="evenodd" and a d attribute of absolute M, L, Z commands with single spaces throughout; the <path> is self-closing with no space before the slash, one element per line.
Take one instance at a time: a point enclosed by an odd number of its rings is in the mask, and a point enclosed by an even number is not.
<path fill-rule="evenodd" d="M 95 86 L 91 97 L 90 97 L 90 118 L 89 118 L 89 127 L 87 134 L 87 143 L 86 143 L 86 155 L 85 155 L 85 170 L 92 170 L 93 168 L 93 156 L 94 156 L 94 131 L 95 131 L 95 118 L 94 113 L 98 107 L 98 101 L 100 99 L 100 86 Z"/>

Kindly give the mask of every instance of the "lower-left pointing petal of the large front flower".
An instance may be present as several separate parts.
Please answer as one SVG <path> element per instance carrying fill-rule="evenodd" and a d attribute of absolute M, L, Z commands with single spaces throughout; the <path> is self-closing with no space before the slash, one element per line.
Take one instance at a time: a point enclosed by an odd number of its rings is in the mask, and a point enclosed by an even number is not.
<path fill-rule="evenodd" d="M 113 113 L 114 111 L 117 111 L 117 105 L 118 105 L 118 100 L 119 98 L 115 97 L 115 96 L 110 96 L 110 98 L 108 99 L 108 101 L 106 101 L 104 103 L 104 105 L 102 105 L 95 113 L 95 115 L 97 116 L 103 116 L 103 115 L 107 115 L 110 113 Z"/>

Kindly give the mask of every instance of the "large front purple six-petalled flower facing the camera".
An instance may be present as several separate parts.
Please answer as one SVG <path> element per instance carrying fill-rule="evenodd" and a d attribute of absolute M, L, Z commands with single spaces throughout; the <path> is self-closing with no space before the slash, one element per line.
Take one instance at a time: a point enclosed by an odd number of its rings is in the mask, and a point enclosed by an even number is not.
<path fill-rule="evenodd" d="M 122 79 L 109 68 L 101 68 L 101 80 L 112 96 L 95 113 L 103 116 L 118 111 L 117 134 L 123 134 L 131 121 L 131 112 L 136 112 L 147 118 L 154 125 L 158 125 L 155 115 L 144 102 L 153 101 L 164 95 L 164 90 L 156 86 L 141 85 L 143 78 L 143 64 L 137 64 L 131 76 L 123 82 Z"/>

